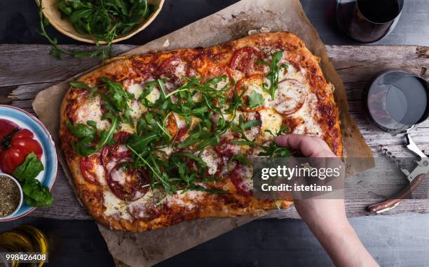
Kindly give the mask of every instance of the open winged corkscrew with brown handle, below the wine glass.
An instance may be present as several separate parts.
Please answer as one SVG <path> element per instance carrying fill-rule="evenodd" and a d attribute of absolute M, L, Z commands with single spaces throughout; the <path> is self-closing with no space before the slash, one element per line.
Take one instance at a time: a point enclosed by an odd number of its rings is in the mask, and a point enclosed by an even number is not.
<path fill-rule="evenodd" d="M 383 147 L 383 145 L 379 145 L 378 148 L 383 154 L 383 156 L 395 161 L 402 173 L 407 176 L 409 184 L 407 185 L 407 187 L 402 189 L 400 192 L 397 192 L 397 194 L 391 196 L 386 201 L 370 205 L 368 207 L 369 212 L 376 212 L 378 214 L 395 208 L 403 199 L 406 199 L 407 196 L 409 196 L 409 194 L 411 194 L 414 189 L 418 187 L 418 185 L 421 184 L 421 182 L 425 179 L 425 176 L 429 173 L 428 156 L 426 156 L 420 149 L 418 149 L 416 143 L 414 143 L 414 140 L 411 139 L 409 133 L 405 134 L 405 138 L 407 140 L 407 145 L 405 145 L 405 147 L 407 147 L 407 149 L 409 149 L 411 152 L 414 152 L 414 154 L 416 154 L 420 158 L 414 159 L 414 162 L 417 164 L 417 166 L 411 172 L 408 171 L 407 168 L 403 168 L 402 161 L 400 161 L 400 159 L 397 159 L 397 157 L 395 157 L 390 151 L 388 151 L 386 147 Z"/>

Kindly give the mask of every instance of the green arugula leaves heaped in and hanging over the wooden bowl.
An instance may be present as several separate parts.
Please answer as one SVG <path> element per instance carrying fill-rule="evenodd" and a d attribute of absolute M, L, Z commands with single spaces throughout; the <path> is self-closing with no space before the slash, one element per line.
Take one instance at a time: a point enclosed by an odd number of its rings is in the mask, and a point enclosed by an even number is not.
<path fill-rule="evenodd" d="M 97 49 L 93 51 L 65 50 L 57 41 L 50 38 L 44 27 L 48 26 L 42 13 L 42 4 L 39 3 L 39 17 L 41 20 L 40 34 L 45 36 L 53 45 L 50 55 L 61 59 L 61 55 L 72 55 L 78 59 L 83 57 L 100 57 L 104 60 L 111 57 L 112 43 L 121 34 L 128 34 L 138 26 L 142 20 L 154 13 L 158 7 L 147 3 L 147 0 L 105 0 L 81 1 L 60 0 L 56 3 L 61 18 L 69 20 L 74 29 L 81 34 L 89 34 L 97 39 Z M 100 45 L 104 41 L 107 45 Z"/>

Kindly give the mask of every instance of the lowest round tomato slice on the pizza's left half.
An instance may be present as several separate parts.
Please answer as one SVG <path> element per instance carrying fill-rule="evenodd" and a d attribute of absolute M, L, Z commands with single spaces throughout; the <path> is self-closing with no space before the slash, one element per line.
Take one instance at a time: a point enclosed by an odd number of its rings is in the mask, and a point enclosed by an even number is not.
<path fill-rule="evenodd" d="M 123 201 L 136 201 L 149 190 L 149 177 L 142 169 L 132 168 L 121 162 L 112 168 L 107 183 L 116 196 Z"/>

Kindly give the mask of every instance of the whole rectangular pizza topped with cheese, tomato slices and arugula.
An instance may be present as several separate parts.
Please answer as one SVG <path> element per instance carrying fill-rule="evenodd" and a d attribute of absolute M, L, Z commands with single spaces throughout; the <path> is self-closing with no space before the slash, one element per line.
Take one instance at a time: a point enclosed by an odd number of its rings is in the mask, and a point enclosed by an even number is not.
<path fill-rule="evenodd" d="M 287 157 L 285 133 L 341 156 L 334 87 L 299 37 L 254 34 L 210 48 L 111 59 L 71 82 L 62 151 L 97 222 L 147 231 L 287 208 L 255 199 L 254 157 Z"/>

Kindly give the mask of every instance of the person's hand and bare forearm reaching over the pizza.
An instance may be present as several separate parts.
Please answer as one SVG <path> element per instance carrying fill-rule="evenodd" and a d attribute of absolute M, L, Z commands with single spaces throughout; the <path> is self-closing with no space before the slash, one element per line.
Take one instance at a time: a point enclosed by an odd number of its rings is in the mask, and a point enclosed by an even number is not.
<path fill-rule="evenodd" d="M 336 157 L 327 143 L 315 136 L 288 134 L 275 138 L 281 146 L 306 157 Z M 379 266 L 348 223 L 344 199 L 299 199 L 295 208 L 336 266 Z"/>

